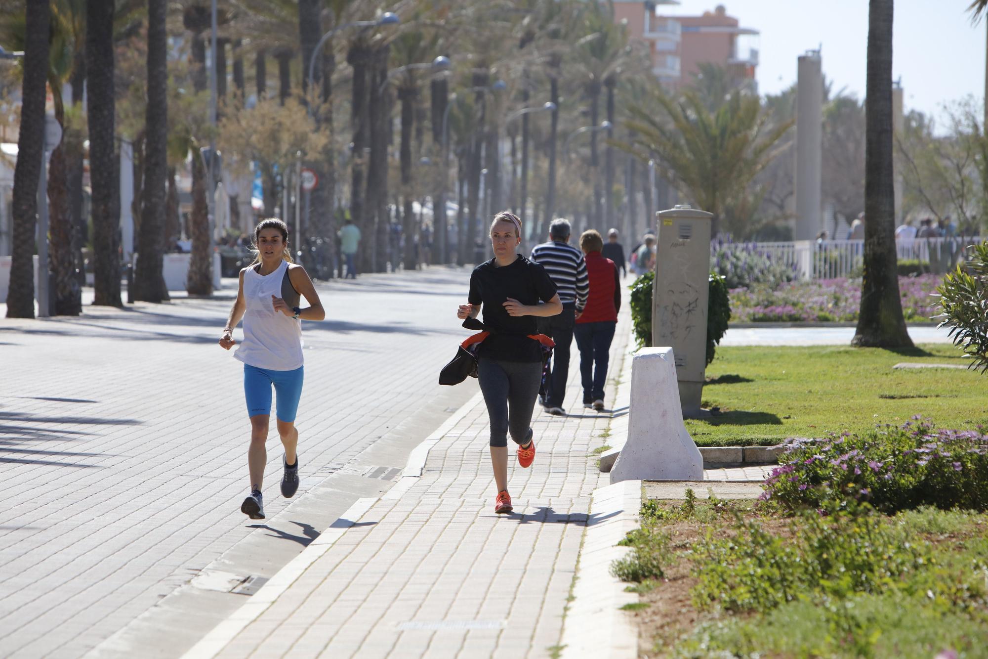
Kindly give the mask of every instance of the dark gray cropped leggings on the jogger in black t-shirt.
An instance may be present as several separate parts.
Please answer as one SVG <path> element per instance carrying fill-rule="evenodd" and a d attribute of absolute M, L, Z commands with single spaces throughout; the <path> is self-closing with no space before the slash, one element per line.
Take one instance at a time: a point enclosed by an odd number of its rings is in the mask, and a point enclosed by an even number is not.
<path fill-rule="evenodd" d="M 491 420 L 491 446 L 507 446 L 508 432 L 516 444 L 532 435 L 532 411 L 542 382 L 540 361 L 500 361 L 480 357 L 477 379 Z"/>

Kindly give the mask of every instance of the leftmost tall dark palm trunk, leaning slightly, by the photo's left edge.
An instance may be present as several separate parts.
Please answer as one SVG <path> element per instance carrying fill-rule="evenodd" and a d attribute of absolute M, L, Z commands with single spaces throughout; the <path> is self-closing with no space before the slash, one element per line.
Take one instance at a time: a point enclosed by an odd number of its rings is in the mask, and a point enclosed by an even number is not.
<path fill-rule="evenodd" d="M 47 2 L 31 2 L 25 13 L 24 78 L 21 132 L 14 168 L 14 231 L 7 318 L 35 318 L 35 280 L 32 261 L 35 214 L 44 142 L 44 80 L 48 71 Z"/>

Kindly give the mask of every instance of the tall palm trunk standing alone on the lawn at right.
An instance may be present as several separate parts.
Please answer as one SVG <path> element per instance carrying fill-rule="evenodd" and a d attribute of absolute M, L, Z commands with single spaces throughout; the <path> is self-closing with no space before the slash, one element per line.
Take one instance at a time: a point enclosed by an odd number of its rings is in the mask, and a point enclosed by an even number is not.
<path fill-rule="evenodd" d="M 892 3 L 868 5 L 864 114 L 864 280 L 852 345 L 911 347 L 899 297 L 892 183 Z"/>

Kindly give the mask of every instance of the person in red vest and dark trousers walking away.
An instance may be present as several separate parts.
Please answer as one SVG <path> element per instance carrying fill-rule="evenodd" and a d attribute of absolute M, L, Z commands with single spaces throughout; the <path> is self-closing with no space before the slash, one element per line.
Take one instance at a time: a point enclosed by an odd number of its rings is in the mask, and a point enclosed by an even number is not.
<path fill-rule="evenodd" d="M 583 407 L 593 407 L 597 412 L 604 411 L 604 384 L 620 309 L 617 263 L 601 253 L 604 246 L 604 239 L 593 229 L 580 235 L 580 249 L 590 278 L 590 297 L 583 314 L 576 319 L 576 347 L 580 350 Z"/>

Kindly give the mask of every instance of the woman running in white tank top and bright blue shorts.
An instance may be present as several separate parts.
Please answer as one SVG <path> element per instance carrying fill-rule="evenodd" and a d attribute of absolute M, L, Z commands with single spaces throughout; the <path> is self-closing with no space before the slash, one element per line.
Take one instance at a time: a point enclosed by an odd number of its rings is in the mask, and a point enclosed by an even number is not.
<path fill-rule="evenodd" d="M 250 417 L 250 496 L 240 506 L 251 519 L 264 519 L 261 486 L 268 464 L 268 424 L 271 388 L 278 395 L 278 434 L 285 446 L 282 494 L 298 490 L 298 430 L 295 412 L 302 393 L 301 319 L 321 321 L 326 313 L 305 268 L 291 262 L 288 227 L 274 218 L 254 230 L 254 262 L 240 270 L 240 288 L 219 344 L 229 350 L 236 341 L 233 329 L 243 319 L 244 338 L 233 356 L 244 362 L 244 396 Z M 308 307 L 300 308 L 304 296 Z"/>

